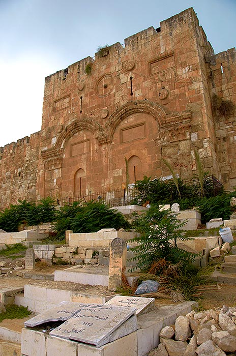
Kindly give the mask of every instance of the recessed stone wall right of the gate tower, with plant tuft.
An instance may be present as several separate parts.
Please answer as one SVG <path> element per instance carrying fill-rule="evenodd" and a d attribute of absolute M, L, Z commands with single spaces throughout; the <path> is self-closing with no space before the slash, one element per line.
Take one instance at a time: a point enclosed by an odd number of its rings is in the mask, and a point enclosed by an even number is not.
<path fill-rule="evenodd" d="M 210 58 L 209 78 L 221 179 L 232 190 L 236 186 L 235 48 Z"/>

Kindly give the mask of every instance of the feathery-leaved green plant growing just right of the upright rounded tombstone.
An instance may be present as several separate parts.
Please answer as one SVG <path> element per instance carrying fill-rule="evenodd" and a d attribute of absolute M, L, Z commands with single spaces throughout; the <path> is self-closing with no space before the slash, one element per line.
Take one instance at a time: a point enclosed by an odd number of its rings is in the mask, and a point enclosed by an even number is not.
<path fill-rule="evenodd" d="M 181 263 L 185 268 L 197 256 L 194 253 L 182 250 L 177 246 L 177 240 L 191 240 L 182 235 L 179 230 L 186 224 L 180 222 L 170 210 L 160 211 L 157 205 L 151 205 L 145 214 L 136 217 L 133 227 L 140 236 L 131 240 L 135 253 L 131 258 L 137 262 L 137 268 L 149 272 L 159 260 L 168 263 Z"/>

